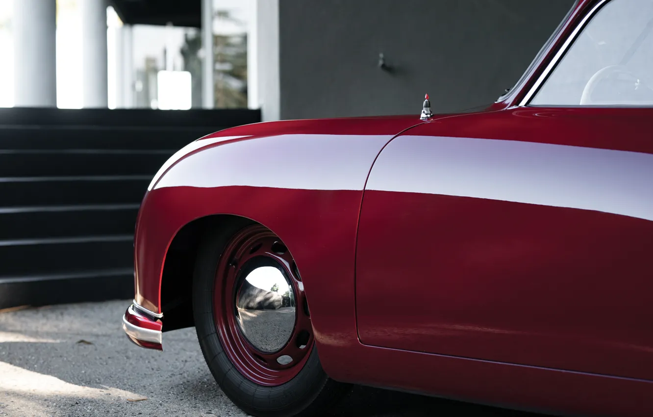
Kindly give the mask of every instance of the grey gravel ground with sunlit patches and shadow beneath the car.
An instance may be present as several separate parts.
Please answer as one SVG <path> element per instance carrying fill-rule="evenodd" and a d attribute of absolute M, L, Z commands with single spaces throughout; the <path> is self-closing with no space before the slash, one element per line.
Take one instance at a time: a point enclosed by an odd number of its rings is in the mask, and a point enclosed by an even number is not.
<path fill-rule="evenodd" d="M 165 333 L 163 353 L 127 341 L 129 303 L 0 312 L 0 416 L 246 416 L 215 384 L 195 329 Z M 365 387 L 330 415 L 537 416 Z"/>

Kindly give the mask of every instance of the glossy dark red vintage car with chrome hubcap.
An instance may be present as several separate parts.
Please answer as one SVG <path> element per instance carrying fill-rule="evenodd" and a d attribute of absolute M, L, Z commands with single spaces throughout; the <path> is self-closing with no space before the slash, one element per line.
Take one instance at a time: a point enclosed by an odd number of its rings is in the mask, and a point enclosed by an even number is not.
<path fill-rule="evenodd" d="M 652 31 L 581 0 L 486 110 L 192 142 L 142 202 L 127 335 L 194 325 L 255 416 L 347 384 L 653 416 Z"/>

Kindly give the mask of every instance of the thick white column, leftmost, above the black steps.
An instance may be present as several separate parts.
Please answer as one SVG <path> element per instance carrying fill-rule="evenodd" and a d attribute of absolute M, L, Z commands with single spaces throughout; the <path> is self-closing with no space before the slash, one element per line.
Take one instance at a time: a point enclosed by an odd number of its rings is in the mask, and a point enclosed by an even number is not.
<path fill-rule="evenodd" d="M 57 106 L 56 0 L 14 0 L 14 106 Z"/>

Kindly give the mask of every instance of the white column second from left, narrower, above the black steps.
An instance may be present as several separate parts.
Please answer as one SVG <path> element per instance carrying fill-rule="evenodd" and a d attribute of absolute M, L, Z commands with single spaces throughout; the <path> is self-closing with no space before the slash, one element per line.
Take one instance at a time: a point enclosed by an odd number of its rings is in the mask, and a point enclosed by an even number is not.
<path fill-rule="evenodd" d="M 82 91 L 83 105 L 108 105 L 106 48 L 106 0 L 78 2 L 82 16 Z"/>

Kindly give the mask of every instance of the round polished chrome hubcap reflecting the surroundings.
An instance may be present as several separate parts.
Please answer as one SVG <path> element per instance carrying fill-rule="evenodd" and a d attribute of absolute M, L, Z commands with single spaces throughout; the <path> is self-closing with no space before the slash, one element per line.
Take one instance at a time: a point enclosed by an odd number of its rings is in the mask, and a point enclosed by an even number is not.
<path fill-rule="evenodd" d="M 246 275 L 236 292 L 236 322 L 257 350 L 281 350 L 295 327 L 295 293 L 281 269 L 274 266 L 243 268 Z"/>

